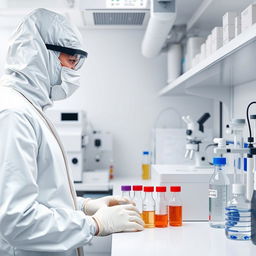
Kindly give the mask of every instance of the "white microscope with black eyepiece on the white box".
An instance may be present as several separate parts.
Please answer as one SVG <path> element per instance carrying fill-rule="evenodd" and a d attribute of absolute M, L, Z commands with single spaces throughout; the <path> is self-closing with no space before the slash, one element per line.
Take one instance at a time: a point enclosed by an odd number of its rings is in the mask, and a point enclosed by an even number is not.
<path fill-rule="evenodd" d="M 200 150 L 200 144 L 205 139 L 204 123 L 209 118 L 210 114 L 205 113 L 195 123 L 190 116 L 182 117 L 183 121 L 187 124 L 187 144 L 185 158 L 189 157 L 191 160 L 195 158 L 196 167 L 209 166 L 202 150 Z"/>

